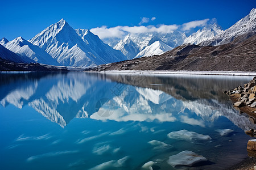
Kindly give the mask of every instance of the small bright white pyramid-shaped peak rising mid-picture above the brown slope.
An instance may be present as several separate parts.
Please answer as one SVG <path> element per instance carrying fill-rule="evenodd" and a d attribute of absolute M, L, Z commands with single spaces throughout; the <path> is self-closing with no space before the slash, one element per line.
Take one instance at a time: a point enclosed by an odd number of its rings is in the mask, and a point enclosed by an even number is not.
<path fill-rule="evenodd" d="M 171 46 L 164 44 L 162 41 L 155 41 L 153 44 L 146 46 L 141 52 L 137 54 L 135 58 L 140 58 L 143 56 L 154 56 L 154 55 L 160 55 L 168 50 L 172 50 Z"/>

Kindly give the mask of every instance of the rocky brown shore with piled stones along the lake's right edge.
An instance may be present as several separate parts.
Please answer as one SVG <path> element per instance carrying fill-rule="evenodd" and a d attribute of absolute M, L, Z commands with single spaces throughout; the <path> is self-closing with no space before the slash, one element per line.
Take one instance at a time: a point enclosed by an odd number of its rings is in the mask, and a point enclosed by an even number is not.
<path fill-rule="evenodd" d="M 248 114 L 249 120 L 256 124 L 256 76 L 249 83 L 224 93 L 230 96 L 234 107 L 240 113 Z M 256 137 L 256 129 L 247 130 L 245 133 L 250 137 Z M 256 139 L 248 141 L 247 152 L 249 158 L 230 169 L 256 169 Z"/>

